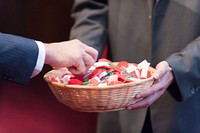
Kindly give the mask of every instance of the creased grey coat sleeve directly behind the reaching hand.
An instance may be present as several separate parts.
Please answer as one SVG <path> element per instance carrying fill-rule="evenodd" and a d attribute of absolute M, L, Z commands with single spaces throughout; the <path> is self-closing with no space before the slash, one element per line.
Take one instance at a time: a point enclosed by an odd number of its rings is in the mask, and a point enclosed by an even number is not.
<path fill-rule="evenodd" d="M 94 47 L 101 56 L 107 43 L 107 0 L 75 0 L 72 18 L 70 38 Z"/>

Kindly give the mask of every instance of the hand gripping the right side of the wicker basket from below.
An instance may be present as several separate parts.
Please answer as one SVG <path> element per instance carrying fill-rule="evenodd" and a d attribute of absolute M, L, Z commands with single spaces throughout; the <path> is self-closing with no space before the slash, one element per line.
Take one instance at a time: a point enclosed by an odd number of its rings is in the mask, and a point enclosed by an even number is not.
<path fill-rule="evenodd" d="M 166 61 L 162 61 L 156 66 L 153 76 L 155 78 L 154 84 L 135 96 L 137 99 L 143 99 L 129 105 L 127 109 L 135 110 L 149 107 L 163 95 L 168 86 L 174 81 L 172 69 Z"/>

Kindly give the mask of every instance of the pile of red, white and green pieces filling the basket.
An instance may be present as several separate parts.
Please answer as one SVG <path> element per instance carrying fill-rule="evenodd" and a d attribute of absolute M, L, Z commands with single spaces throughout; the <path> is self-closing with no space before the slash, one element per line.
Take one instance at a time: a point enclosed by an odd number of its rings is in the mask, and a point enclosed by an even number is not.
<path fill-rule="evenodd" d="M 121 61 L 113 64 L 110 60 L 99 59 L 87 72 L 80 75 L 64 73 L 61 78 L 51 78 L 51 82 L 59 82 L 71 85 L 110 86 L 135 82 L 150 78 L 150 63 L 146 60 L 139 64 L 129 64 Z"/>

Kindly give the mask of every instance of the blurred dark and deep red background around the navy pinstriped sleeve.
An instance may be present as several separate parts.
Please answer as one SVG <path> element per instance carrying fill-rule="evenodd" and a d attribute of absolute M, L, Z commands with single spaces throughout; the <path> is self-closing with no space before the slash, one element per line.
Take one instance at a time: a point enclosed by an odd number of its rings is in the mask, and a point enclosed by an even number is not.
<path fill-rule="evenodd" d="M 43 42 L 69 39 L 73 0 L 0 0 L 0 32 Z M 66 51 L 67 52 L 67 51 Z M 43 80 L 26 86 L 0 79 L 0 133 L 95 133 L 96 113 L 60 103 Z"/>

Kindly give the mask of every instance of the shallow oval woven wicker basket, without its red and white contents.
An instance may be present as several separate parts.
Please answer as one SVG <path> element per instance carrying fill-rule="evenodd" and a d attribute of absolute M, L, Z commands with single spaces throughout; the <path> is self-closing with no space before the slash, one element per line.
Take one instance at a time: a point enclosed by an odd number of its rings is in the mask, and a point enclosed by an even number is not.
<path fill-rule="evenodd" d="M 153 68 L 149 68 L 153 71 Z M 106 112 L 125 109 L 137 102 L 134 96 L 153 84 L 153 77 L 137 82 L 117 84 L 107 87 L 68 85 L 51 82 L 52 77 L 61 76 L 62 70 L 51 70 L 44 75 L 53 94 L 63 104 L 82 112 Z"/>

